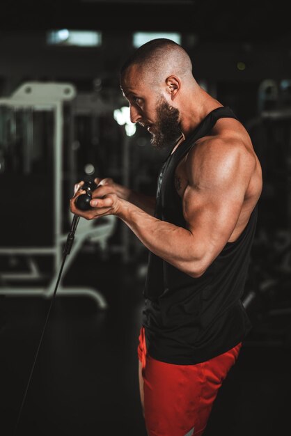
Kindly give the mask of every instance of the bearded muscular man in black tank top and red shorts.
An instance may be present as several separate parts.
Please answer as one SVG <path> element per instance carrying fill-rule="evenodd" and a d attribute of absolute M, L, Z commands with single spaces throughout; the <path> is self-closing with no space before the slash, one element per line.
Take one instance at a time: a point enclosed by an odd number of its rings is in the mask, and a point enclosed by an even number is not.
<path fill-rule="evenodd" d="M 166 39 L 125 62 L 120 87 L 133 123 L 170 147 L 156 198 L 96 179 L 92 209 L 122 219 L 150 251 L 139 336 L 149 436 L 200 436 L 221 382 L 251 328 L 241 297 L 262 171 L 233 111 L 206 93 L 184 49 Z"/>

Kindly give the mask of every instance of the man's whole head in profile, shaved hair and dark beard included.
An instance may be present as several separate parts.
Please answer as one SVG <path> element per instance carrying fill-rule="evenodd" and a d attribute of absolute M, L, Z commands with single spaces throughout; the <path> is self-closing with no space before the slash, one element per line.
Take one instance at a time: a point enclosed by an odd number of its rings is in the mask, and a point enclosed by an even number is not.
<path fill-rule="evenodd" d="M 189 55 L 166 38 L 141 45 L 120 69 L 120 88 L 129 101 L 132 123 L 147 128 L 156 148 L 173 146 L 181 137 L 180 102 L 195 83 Z"/>

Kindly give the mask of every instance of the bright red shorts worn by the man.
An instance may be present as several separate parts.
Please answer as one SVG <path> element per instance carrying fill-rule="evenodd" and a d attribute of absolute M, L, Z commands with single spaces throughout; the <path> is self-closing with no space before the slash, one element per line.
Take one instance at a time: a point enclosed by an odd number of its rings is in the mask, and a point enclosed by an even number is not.
<path fill-rule="evenodd" d="M 235 364 L 242 343 L 196 365 L 166 364 L 146 352 L 144 329 L 139 335 L 144 413 L 148 436 L 200 436 L 223 379 Z"/>

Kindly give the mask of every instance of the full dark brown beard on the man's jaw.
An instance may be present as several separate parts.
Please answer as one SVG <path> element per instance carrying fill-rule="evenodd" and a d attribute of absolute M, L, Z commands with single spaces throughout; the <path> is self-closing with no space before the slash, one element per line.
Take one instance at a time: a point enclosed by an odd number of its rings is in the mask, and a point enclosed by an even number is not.
<path fill-rule="evenodd" d="M 155 148 L 162 150 L 173 144 L 180 138 L 179 125 L 180 112 L 162 97 L 157 105 L 157 121 L 152 128 L 150 143 Z"/>

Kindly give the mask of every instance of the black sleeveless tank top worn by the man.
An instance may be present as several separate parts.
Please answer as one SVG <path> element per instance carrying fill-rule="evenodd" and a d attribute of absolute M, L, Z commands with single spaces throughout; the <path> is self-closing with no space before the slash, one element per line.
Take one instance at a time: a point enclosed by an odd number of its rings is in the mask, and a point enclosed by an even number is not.
<path fill-rule="evenodd" d="M 236 118 L 229 107 L 208 114 L 162 164 L 155 217 L 186 228 L 175 169 L 195 141 L 210 134 L 219 118 Z M 193 278 L 150 252 L 143 290 L 148 354 L 172 364 L 198 364 L 233 348 L 251 329 L 242 304 L 257 205 L 235 242 L 228 242 L 201 277 Z"/>

